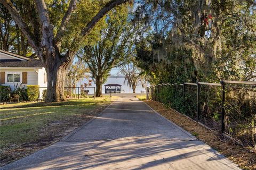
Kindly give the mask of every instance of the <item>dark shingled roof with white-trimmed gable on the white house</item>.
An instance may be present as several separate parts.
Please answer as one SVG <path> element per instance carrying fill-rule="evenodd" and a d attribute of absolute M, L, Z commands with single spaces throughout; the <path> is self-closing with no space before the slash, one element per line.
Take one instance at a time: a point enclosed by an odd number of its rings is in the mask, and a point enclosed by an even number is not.
<path fill-rule="evenodd" d="M 2 59 L 8 56 L 10 59 Z M 0 50 L 0 67 L 43 67 L 41 61 Z"/>

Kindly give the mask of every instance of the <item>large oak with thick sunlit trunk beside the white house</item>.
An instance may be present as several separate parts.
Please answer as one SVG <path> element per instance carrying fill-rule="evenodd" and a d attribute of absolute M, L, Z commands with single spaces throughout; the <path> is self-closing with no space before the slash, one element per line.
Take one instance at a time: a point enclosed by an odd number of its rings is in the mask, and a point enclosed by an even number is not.
<path fill-rule="evenodd" d="M 45 67 L 46 102 L 65 100 L 65 77 L 77 50 L 83 45 L 81 42 L 86 42 L 86 36 L 108 11 L 127 1 L 70 0 L 66 4 L 54 0 L 0 0 Z M 29 9 L 26 18 L 21 16 L 17 5 Z M 90 39 L 87 42 L 90 43 Z"/>

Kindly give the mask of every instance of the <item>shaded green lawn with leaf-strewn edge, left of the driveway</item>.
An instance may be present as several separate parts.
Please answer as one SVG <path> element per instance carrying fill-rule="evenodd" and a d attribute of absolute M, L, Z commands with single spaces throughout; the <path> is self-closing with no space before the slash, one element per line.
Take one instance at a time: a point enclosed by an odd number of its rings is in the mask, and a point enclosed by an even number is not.
<path fill-rule="evenodd" d="M 17 152 L 17 148 L 31 147 L 42 142 L 49 145 L 52 141 L 61 139 L 70 129 L 74 130 L 100 113 L 111 100 L 113 98 L 103 97 L 95 100 L 85 98 L 59 103 L 17 103 L 0 106 L 1 163 L 14 160 L 16 157 L 12 152 Z"/>

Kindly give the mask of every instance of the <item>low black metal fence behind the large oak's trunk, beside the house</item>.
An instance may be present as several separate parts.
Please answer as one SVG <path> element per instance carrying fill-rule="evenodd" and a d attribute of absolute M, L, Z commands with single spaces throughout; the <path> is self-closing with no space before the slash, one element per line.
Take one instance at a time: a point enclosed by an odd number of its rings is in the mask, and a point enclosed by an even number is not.
<path fill-rule="evenodd" d="M 47 87 L 39 87 L 39 98 L 44 99 Z M 68 99 L 83 99 L 94 96 L 95 87 L 64 87 L 64 95 Z"/>

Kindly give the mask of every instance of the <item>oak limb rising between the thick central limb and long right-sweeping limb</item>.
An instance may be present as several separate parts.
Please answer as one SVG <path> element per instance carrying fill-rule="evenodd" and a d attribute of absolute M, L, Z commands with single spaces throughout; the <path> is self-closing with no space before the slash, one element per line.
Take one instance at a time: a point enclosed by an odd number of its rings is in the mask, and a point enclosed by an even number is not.
<path fill-rule="evenodd" d="M 68 6 L 68 10 L 65 13 L 65 15 L 62 18 L 60 28 L 57 31 L 57 35 L 55 37 L 55 44 L 59 47 L 61 45 L 60 40 L 63 36 L 63 33 L 65 31 L 65 28 L 68 24 L 68 21 L 70 20 L 70 16 L 73 13 L 73 11 L 76 9 L 76 2 L 77 0 L 71 0 Z"/>

